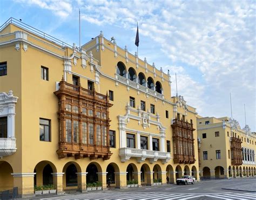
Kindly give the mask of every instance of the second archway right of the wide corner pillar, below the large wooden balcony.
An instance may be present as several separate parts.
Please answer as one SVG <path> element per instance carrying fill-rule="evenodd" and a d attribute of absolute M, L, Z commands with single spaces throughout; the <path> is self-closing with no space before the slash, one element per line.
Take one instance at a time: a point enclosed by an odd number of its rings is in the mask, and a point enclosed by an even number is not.
<path fill-rule="evenodd" d="M 63 167 L 63 189 L 64 190 L 77 190 L 78 180 L 77 173 L 82 170 L 76 162 L 68 162 Z"/>

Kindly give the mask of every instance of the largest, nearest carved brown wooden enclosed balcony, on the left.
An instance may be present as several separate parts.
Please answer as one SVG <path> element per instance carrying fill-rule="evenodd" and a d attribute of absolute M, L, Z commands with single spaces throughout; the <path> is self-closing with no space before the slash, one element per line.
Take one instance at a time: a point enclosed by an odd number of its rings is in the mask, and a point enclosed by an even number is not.
<path fill-rule="evenodd" d="M 59 99 L 58 157 L 109 159 L 109 96 L 63 79 L 55 94 Z"/>

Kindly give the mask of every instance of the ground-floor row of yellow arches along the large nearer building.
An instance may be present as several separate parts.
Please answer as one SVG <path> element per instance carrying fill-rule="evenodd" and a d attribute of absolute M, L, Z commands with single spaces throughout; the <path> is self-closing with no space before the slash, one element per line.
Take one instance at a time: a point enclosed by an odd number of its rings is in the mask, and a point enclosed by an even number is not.
<path fill-rule="evenodd" d="M 67 161 L 61 165 L 51 161 L 40 161 L 31 171 L 14 171 L 10 163 L 0 161 L 0 191 L 18 187 L 19 194 L 33 194 L 34 186 L 52 185 L 58 194 L 66 190 L 86 190 L 86 185 L 100 183 L 105 189 L 107 180 L 111 187 L 124 188 L 133 181 L 138 186 L 153 185 L 154 182 L 175 183 L 182 175 L 193 175 L 199 180 L 196 165 L 163 164 L 161 162 L 143 162 L 130 160 L 125 163 L 106 161 Z M 168 177 L 168 178 L 167 178 Z"/>

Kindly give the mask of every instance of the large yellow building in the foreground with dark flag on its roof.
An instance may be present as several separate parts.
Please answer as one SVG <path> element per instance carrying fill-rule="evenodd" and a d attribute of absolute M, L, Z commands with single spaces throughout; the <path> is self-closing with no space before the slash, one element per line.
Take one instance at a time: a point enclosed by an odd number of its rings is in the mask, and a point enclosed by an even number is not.
<path fill-rule="evenodd" d="M 199 180 L 196 115 L 169 74 L 102 32 L 79 49 L 14 18 L 1 26 L 0 191 Z"/>

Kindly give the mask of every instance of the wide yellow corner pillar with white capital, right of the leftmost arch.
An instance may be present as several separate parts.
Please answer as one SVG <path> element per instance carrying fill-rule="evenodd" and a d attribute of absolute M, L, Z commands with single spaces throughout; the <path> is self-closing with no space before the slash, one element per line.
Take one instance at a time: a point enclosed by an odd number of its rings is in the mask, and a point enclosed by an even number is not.
<path fill-rule="evenodd" d="M 36 173 L 11 173 L 14 176 L 14 187 L 22 198 L 34 197 L 34 176 Z"/>

